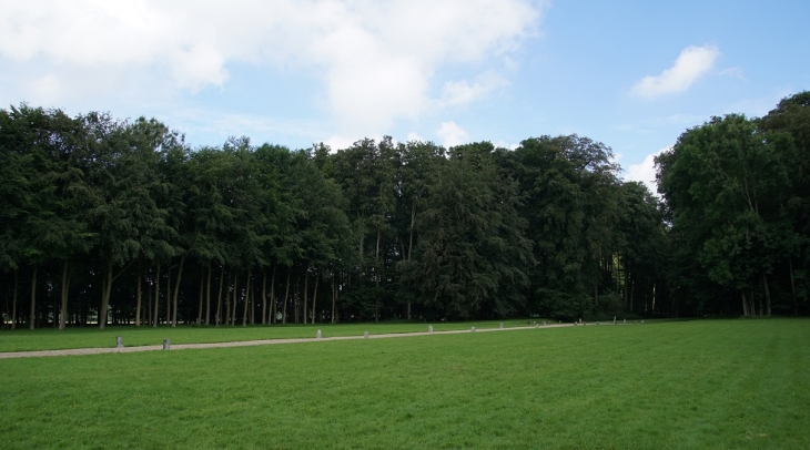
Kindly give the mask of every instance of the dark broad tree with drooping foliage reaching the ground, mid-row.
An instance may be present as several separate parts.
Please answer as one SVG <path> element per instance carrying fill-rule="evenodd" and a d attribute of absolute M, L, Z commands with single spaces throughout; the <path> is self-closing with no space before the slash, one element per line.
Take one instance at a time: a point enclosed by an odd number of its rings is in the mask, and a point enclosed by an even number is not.
<path fill-rule="evenodd" d="M 450 149 L 417 219 L 409 279 L 442 317 L 502 317 L 523 301 L 533 264 L 517 184 L 499 176 L 489 143 Z"/>

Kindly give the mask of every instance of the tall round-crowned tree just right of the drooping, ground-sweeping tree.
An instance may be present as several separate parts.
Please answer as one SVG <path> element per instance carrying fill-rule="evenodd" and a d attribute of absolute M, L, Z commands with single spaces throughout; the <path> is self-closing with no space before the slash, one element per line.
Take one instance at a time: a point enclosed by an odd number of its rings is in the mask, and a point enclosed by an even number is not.
<path fill-rule="evenodd" d="M 525 140 L 498 162 L 519 182 L 520 215 L 538 262 L 531 313 L 575 318 L 598 301 L 599 265 L 619 242 L 618 167 L 605 144 L 577 135 Z"/>

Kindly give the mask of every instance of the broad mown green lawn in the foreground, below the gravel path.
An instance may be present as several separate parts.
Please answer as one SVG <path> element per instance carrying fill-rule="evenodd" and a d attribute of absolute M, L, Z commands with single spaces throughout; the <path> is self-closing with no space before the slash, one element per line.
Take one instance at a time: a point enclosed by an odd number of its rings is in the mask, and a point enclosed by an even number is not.
<path fill-rule="evenodd" d="M 806 319 L 4 359 L 0 377 L 1 448 L 810 448 Z"/>

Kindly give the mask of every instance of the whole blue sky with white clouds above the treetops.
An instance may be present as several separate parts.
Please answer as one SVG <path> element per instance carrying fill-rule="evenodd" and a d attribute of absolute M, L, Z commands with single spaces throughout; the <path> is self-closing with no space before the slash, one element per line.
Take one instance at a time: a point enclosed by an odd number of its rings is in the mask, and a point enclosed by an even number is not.
<path fill-rule="evenodd" d="M 0 108 L 154 116 L 193 145 L 577 133 L 628 178 L 810 90 L 807 0 L 0 0 Z"/>

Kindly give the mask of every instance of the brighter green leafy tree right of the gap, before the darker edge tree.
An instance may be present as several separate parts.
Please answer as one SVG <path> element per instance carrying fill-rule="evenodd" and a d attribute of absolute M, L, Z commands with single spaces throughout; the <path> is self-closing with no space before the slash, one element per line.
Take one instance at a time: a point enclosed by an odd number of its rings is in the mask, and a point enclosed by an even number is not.
<path fill-rule="evenodd" d="M 793 277 L 776 272 L 783 270 L 786 257 L 792 258 L 803 241 L 787 208 L 800 167 L 793 143 L 762 130 L 756 120 L 730 114 L 688 130 L 656 162 L 671 234 L 681 243 L 674 248 L 675 258 L 699 263 L 679 274 L 691 279 L 680 284 L 705 289 L 706 282 L 713 283 L 739 293 L 745 315 L 757 309 L 770 315 L 768 278 L 776 275 L 783 283 L 784 275 Z M 696 283 L 700 278 L 706 282 Z"/>

